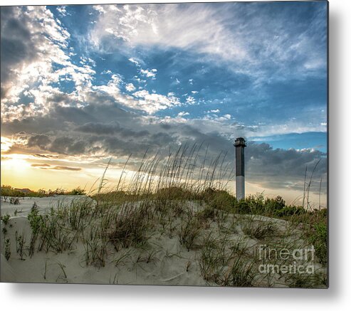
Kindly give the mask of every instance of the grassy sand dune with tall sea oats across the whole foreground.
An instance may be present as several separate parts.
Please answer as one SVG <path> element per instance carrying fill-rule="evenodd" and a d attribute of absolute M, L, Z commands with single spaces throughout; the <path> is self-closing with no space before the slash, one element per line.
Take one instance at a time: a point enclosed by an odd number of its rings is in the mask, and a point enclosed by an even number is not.
<path fill-rule="evenodd" d="M 263 194 L 238 201 L 226 190 L 226 155 L 200 159 L 198 149 L 145 157 L 114 189 L 104 174 L 94 194 L 2 215 L 1 280 L 325 288 L 327 209 Z M 291 255 L 311 246 L 312 257 Z M 313 273 L 294 270 L 311 263 Z"/>

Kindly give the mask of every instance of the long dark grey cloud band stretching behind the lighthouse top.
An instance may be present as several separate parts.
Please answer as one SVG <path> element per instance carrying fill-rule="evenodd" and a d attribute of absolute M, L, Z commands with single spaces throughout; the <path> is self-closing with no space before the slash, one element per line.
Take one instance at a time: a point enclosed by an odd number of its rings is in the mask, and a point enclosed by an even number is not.
<path fill-rule="evenodd" d="M 90 94 L 92 98 L 96 100 L 97 97 Z M 105 154 L 105 157 L 120 158 L 132 154 L 130 169 L 135 169 L 146 150 L 150 157 L 157 153 L 166 159 L 181 142 L 187 146 L 202 145 L 198 163 L 204 159 L 205 153 L 207 159 L 214 159 L 219 153 L 226 154 L 224 166 L 230 170 L 235 160 L 233 142 L 219 132 L 205 132 L 206 128 L 205 121 L 197 124 L 174 122 L 171 125 L 148 122 L 107 99 L 81 108 L 55 107 L 46 116 L 2 125 L 7 135 L 23 132 L 29 137 L 26 146 L 14 145 L 8 153 L 26 152 L 26 147 L 37 147 L 46 152 L 76 156 Z M 326 174 L 327 159 L 323 152 L 273 149 L 269 144 L 248 142 L 246 179 L 271 189 L 301 190 L 306 167 L 310 174 L 318 161 L 314 181 Z M 326 189 L 325 181 L 323 189 Z"/>

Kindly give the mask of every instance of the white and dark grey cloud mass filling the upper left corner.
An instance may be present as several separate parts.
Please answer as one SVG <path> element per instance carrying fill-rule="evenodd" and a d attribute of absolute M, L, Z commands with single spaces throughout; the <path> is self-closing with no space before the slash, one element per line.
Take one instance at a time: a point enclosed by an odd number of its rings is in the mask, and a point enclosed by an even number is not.
<path fill-rule="evenodd" d="M 45 6 L 1 9 L 1 120 L 44 115 L 62 105 L 54 97 L 69 98 L 69 105 L 84 100 L 95 70 L 89 58 L 83 65 L 70 60 L 69 42 L 70 33 Z M 75 92 L 59 88 L 64 80 Z"/>

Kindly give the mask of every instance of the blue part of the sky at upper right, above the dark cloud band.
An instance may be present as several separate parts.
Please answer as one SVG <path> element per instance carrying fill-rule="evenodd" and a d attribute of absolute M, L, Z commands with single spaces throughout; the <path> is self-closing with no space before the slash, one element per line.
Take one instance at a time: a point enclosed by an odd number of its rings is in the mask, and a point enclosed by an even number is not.
<path fill-rule="evenodd" d="M 171 11 L 189 15 L 193 13 L 188 9 L 189 6 L 191 5 L 182 4 L 175 10 L 172 8 Z M 111 75 L 117 74 L 123 86 L 130 84 L 129 91 L 122 90 L 126 94 L 133 95 L 140 89 L 150 94 L 164 96 L 172 93 L 179 99 L 179 105 L 159 109 L 152 115 L 177 117 L 181 113 L 186 119 L 219 118 L 230 115 L 232 122 L 251 127 L 288 124 L 291 128 L 286 131 L 286 137 L 282 136 L 284 133 L 281 132 L 277 132 L 276 137 L 269 135 L 269 141 L 275 142 L 275 147 L 285 149 L 313 147 L 325 152 L 327 119 L 325 2 L 197 6 L 201 6 L 201 9 L 196 14 L 203 12 L 204 15 L 197 21 L 195 25 L 197 27 L 201 27 L 201 23 L 206 23 L 208 16 L 216 16 L 218 11 L 219 21 L 215 26 L 224 33 L 220 36 L 230 38 L 238 32 L 237 26 L 243 28 L 243 33 L 240 34 L 243 43 L 239 43 L 238 46 L 242 46 L 242 53 L 246 53 L 246 58 L 241 59 L 241 56 L 236 56 L 235 53 L 232 59 L 231 56 L 222 56 L 221 53 L 217 53 L 217 56 L 211 53 L 199 53 L 196 46 L 197 44 L 201 46 L 201 43 L 172 44 L 172 40 L 169 40 L 163 45 L 159 39 L 159 42 L 155 40 L 157 42 L 151 45 L 129 44 L 128 40 L 131 39 L 127 37 L 129 33 L 125 29 L 120 33 L 126 38 L 116 38 L 106 29 L 102 31 L 96 26 L 97 23 L 103 25 L 110 23 L 110 19 L 116 19 L 117 23 L 117 19 L 122 18 L 123 13 L 127 11 L 123 10 L 122 6 L 120 9 L 122 14 L 115 15 L 112 14 L 115 11 L 111 13 L 108 6 L 101 6 L 105 13 L 92 6 L 66 6 L 64 11 L 56 6 L 49 6 L 48 9 L 70 33 L 68 50 L 76 54 L 70 58 L 72 63 L 79 65 L 82 57 L 93 60 L 94 85 L 106 85 Z M 142 14 L 148 6 L 144 7 Z M 157 6 L 152 8 L 157 12 Z M 207 13 L 207 10 L 211 10 L 211 14 Z M 221 16 L 223 12 L 225 16 Z M 167 13 L 163 15 L 165 18 L 169 17 Z M 147 16 L 147 13 L 144 16 Z M 239 21 L 235 21 L 236 18 L 239 18 Z M 130 19 L 136 30 L 137 26 L 142 26 L 134 25 L 137 18 Z M 129 25 L 123 25 L 124 28 L 127 26 Z M 183 29 L 180 25 L 179 31 L 186 32 L 186 26 L 187 23 Z M 223 30 L 224 26 L 226 28 Z M 170 29 L 169 33 L 173 31 L 174 29 Z M 251 36 L 248 43 L 245 42 L 245 31 Z M 100 34 L 100 38 L 95 38 L 96 32 Z M 169 33 L 166 32 L 164 36 Z M 202 34 L 196 34 L 195 40 Z M 91 46 L 87 42 L 89 36 L 93 36 L 93 41 L 98 40 L 96 43 L 98 46 Z M 181 39 L 187 41 L 187 38 Z M 138 40 L 135 39 L 137 42 Z M 276 44 L 275 41 L 279 43 Z M 219 46 L 222 44 L 225 45 L 226 42 L 222 42 L 221 39 Z M 276 46 L 272 47 L 272 44 Z M 235 42 L 229 40 L 230 45 L 235 45 Z M 291 48 L 294 45 L 296 47 Z M 211 48 L 204 46 L 203 49 Z M 142 74 L 141 70 L 147 70 L 147 73 Z M 150 70 L 154 70 L 154 73 Z M 74 85 L 63 81 L 58 87 L 71 92 Z M 294 125 L 297 125 L 295 129 Z M 298 134 L 294 134 L 294 130 Z M 308 135 L 300 135 L 304 132 L 308 132 Z M 254 136 L 250 132 L 245 132 L 244 135 Z M 284 143 L 285 139 L 291 143 L 290 146 Z"/>

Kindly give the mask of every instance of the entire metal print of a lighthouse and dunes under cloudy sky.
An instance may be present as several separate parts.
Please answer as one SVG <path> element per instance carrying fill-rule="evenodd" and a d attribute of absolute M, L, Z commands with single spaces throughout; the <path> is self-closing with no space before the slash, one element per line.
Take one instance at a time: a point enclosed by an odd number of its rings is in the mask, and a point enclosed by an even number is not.
<path fill-rule="evenodd" d="M 1 282 L 328 287 L 328 2 L 1 6 Z"/>

